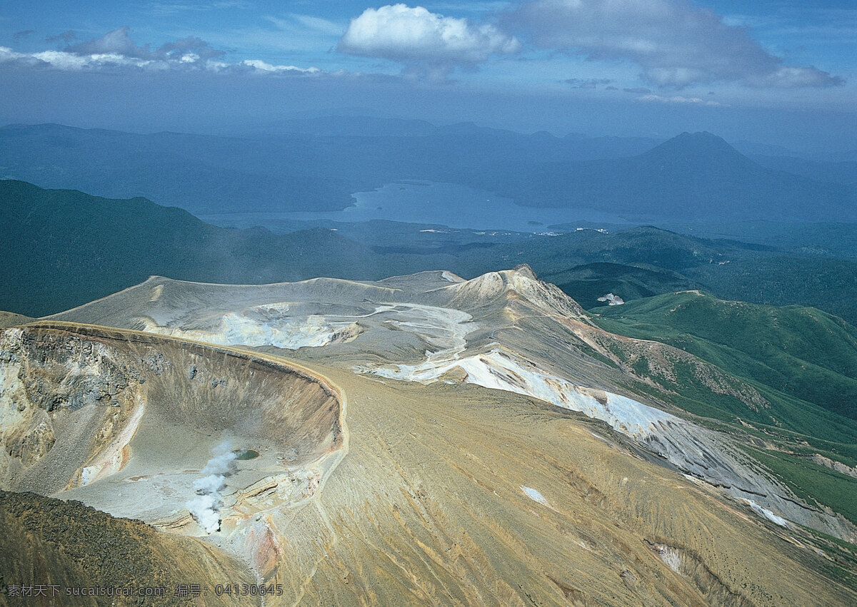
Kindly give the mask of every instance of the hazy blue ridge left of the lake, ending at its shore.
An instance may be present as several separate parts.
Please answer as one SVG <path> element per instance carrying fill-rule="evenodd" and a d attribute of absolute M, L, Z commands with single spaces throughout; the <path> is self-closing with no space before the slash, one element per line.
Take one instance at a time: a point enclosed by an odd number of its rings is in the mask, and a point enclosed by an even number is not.
<path fill-rule="evenodd" d="M 324 151 L 305 140 L 17 125 L 0 128 L 0 176 L 108 198 L 144 196 L 194 212 L 350 205 L 359 181 L 331 170 Z"/>

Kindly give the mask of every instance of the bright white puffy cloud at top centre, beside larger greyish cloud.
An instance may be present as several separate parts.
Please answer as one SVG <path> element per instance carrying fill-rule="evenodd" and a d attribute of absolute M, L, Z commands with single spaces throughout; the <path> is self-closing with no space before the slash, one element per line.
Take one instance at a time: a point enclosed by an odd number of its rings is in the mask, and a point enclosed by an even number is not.
<path fill-rule="evenodd" d="M 411 68 L 472 67 L 491 55 L 520 50 L 517 39 L 488 24 L 431 13 L 421 6 L 388 4 L 352 19 L 337 50 L 381 57 Z"/>

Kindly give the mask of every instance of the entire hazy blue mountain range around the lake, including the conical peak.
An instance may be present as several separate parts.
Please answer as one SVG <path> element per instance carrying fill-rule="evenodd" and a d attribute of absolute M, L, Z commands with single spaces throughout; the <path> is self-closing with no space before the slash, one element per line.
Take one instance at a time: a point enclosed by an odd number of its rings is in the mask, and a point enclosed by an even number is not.
<path fill-rule="evenodd" d="M 0 176 L 111 198 L 145 196 L 200 215 L 340 210 L 352 204 L 351 193 L 425 179 L 500 193 L 518 205 L 620 213 L 636 223 L 857 221 L 853 163 L 759 158 L 763 166 L 707 133 L 663 142 L 558 138 L 343 117 L 291 121 L 280 132 L 242 139 L 9 126 L 0 128 Z"/>

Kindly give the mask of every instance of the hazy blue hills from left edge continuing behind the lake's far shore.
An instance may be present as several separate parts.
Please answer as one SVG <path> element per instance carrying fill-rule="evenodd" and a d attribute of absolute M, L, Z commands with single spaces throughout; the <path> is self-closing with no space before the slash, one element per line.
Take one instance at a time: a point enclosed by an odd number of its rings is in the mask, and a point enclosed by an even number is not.
<path fill-rule="evenodd" d="M 416 134 L 423 129 L 428 134 Z M 378 119 L 318 119 L 294 130 L 244 139 L 12 125 L 0 128 L 0 176 L 108 198 L 144 196 L 197 214 L 332 211 L 351 205 L 351 193 L 396 179 L 453 181 L 492 163 L 568 158 L 572 146 Z"/>

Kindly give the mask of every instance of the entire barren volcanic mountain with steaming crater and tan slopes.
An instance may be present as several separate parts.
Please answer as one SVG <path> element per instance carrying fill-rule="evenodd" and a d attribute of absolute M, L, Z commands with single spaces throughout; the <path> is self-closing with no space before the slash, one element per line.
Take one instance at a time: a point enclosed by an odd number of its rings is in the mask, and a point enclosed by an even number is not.
<path fill-rule="evenodd" d="M 804 527 L 850 523 L 613 346 L 758 395 L 597 329 L 525 267 L 153 277 L 2 338 L 3 486 L 204 538 L 283 585 L 266 604 L 857 600 L 852 549 Z"/>

